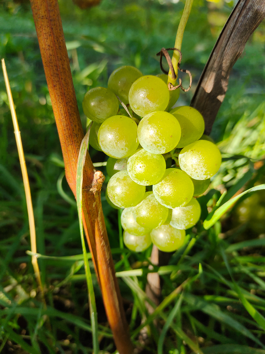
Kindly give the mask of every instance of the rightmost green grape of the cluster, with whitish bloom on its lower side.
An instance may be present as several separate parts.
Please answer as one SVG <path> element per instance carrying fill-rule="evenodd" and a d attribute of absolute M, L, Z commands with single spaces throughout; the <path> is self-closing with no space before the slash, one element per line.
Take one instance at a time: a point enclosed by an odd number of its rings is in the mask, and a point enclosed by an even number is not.
<path fill-rule="evenodd" d="M 180 168 L 194 179 L 207 179 L 216 174 L 222 157 L 216 145 L 198 140 L 181 150 L 178 156 Z"/>

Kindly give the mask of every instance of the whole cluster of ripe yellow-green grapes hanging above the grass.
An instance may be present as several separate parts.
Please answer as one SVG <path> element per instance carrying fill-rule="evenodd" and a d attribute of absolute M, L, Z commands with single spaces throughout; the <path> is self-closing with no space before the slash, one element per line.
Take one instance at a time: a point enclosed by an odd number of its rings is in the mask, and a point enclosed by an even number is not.
<path fill-rule="evenodd" d="M 169 91 L 167 75 L 143 76 L 124 66 L 110 75 L 107 89 L 96 87 L 84 97 L 84 113 L 93 121 L 89 143 L 110 156 L 106 199 L 124 208 L 124 244 L 136 252 L 152 242 L 165 252 L 183 244 L 185 230 L 201 214 L 194 197 L 221 164 L 216 145 L 200 139 L 201 114 L 188 106 L 170 110 L 178 96 L 178 89 Z"/>

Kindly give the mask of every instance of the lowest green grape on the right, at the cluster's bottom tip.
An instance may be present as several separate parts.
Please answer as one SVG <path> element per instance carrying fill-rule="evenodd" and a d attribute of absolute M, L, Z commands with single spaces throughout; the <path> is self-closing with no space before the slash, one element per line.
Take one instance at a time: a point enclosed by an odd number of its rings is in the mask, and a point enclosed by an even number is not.
<path fill-rule="evenodd" d="M 161 225 L 150 233 L 151 240 L 160 251 L 173 252 L 183 245 L 186 232 L 171 225 Z"/>

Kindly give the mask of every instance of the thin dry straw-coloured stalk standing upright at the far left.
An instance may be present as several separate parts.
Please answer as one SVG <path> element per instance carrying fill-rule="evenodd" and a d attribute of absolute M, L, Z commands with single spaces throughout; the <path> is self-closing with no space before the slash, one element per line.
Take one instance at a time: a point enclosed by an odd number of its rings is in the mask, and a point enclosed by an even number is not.
<path fill-rule="evenodd" d="M 21 167 L 21 172 L 22 172 L 22 177 L 23 177 L 23 184 L 24 184 L 24 188 L 25 188 L 27 210 L 28 210 L 28 217 L 29 217 L 31 252 L 37 253 L 36 230 L 35 230 L 35 222 L 34 222 L 33 206 L 32 206 L 32 200 L 31 200 L 30 187 L 29 187 L 27 166 L 25 163 L 24 151 L 23 151 L 20 131 L 19 131 L 19 127 L 18 127 L 18 121 L 17 121 L 17 115 L 16 115 L 16 111 L 15 111 L 15 107 L 14 107 L 13 97 L 12 97 L 12 93 L 11 93 L 11 89 L 10 89 L 8 76 L 7 76 L 5 60 L 2 59 L 1 61 L 2 61 L 2 69 L 3 69 L 3 73 L 4 73 L 8 101 L 10 104 L 12 121 L 13 121 L 13 125 L 14 125 L 14 133 L 15 133 L 15 138 L 16 138 L 16 143 L 17 143 L 19 162 L 20 162 L 20 167 Z M 39 269 L 39 265 L 37 262 L 37 258 L 35 256 L 31 256 L 31 262 L 33 265 L 33 269 L 34 269 L 37 283 L 39 284 L 39 287 L 41 290 L 43 302 L 45 303 L 43 287 L 42 287 L 42 283 L 41 283 L 40 269 Z"/>

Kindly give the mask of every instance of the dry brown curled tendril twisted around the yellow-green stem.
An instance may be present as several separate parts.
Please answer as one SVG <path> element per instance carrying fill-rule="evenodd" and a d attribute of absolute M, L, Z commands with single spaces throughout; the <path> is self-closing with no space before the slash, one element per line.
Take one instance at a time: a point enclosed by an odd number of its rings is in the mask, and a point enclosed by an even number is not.
<path fill-rule="evenodd" d="M 163 68 L 163 65 L 162 65 L 162 57 L 163 57 L 163 55 L 164 55 L 164 57 L 166 58 L 167 64 L 169 64 L 169 68 L 170 68 L 171 73 L 172 73 L 172 78 L 173 78 L 173 80 L 176 80 L 177 75 L 176 75 L 176 73 L 175 73 L 175 70 L 174 70 L 174 67 L 173 67 L 171 58 L 170 58 L 170 56 L 169 56 L 169 53 L 167 52 L 168 50 L 177 50 L 177 51 L 179 52 L 179 61 L 178 61 L 177 68 L 178 68 L 179 71 L 181 71 L 181 72 L 183 72 L 183 73 L 187 73 L 187 74 L 189 75 L 189 87 L 188 87 L 188 89 L 185 90 L 185 89 L 183 88 L 183 86 L 182 86 L 182 80 L 181 80 L 180 78 L 179 78 L 179 85 L 174 86 L 174 85 L 171 84 L 171 82 L 169 82 L 168 88 L 169 88 L 170 91 L 173 91 L 173 90 L 178 89 L 178 87 L 180 87 L 182 91 L 187 92 L 187 91 L 189 91 L 190 87 L 192 86 L 192 74 L 190 73 L 189 70 L 184 70 L 184 69 L 180 69 L 180 68 L 179 68 L 179 64 L 181 63 L 181 59 L 182 59 L 182 54 L 181 54 L 181 51 L 180 51 L 180 50 L 178 50 L 177 48 L 167 48 L 167 49 L 166 49 L 166 48 L 162 48 L 162 49 L 160 50 L 160 52 L 157 53 L 157 56 L 160 55 L 160 69 L 162 70 L 162 72 L 163 72 L 164 74 L 168 74 L 168 73 L 169 73 L 169 70 L 165 70 L 165 69 Z"/>

